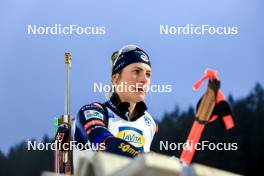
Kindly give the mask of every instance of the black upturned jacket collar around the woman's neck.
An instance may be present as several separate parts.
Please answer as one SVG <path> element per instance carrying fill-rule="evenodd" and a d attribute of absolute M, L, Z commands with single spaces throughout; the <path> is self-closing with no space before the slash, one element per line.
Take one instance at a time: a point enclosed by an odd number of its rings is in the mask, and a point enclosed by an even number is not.
<path fill-rule="evenodd" d="M 129 103 L 128 102 L 121 102 L 120 98 L 118 97 L 118 95 L 116 93 L 113 93 L 110 100 L 107 101 L 105 104 L 107 107 L 109 107 L 118 116 L 120 116 L 124 120 L 128 120 Z M 147 110 L 146 104 L 143 101 L 138 102 L 136 104 L 136 107 L 135 107 L 136 116 L 131 121 L 135 121 L 139 117 L 144 115 L 146 110 Z"/>

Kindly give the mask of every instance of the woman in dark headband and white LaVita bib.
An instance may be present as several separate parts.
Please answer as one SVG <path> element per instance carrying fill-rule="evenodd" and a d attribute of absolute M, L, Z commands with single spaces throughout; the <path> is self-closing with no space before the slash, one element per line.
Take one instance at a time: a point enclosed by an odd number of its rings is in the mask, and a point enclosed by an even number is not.
<path fill-rule="evenodd" d="M 111 62 L 113 93 L 105 103 L 79 110 L 74 140 L 135 157 L 150 151 L 157 128 L 144 103 L 151 80 L 149 56 L 136 45 L 126 45 L 112 54 Z"/>

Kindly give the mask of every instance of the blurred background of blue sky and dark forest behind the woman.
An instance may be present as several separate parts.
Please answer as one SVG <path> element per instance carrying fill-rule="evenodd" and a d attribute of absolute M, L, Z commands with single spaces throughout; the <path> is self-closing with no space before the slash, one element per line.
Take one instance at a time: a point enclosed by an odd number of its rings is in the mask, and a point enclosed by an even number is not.
<path fill-rule="evenodd" d="M 126 44 L 136 44 L 150 56 L 152 84 L 172 85 L 170 93 L 149 93 L 149 112 L 160 124 L 160 140 L 184 141 L 194 119 L 201 90 L 192 90 L 208 67 L 218 71 L 237 126 L 225 131 L 208 125 L 203 136 L 214 142 L 238 142 L 238 151 L 197 152 L 195 162 L 254 175 L 264 153 L 263 6 L 261 0 L 157 1 L 33 1 L 0 2 L 0 175 L 37 175 L 52 170 L 52 156 L 26 151 L 24 141 L 49 141 L 53 118 L 64 113 L 64 53 L 73 58 L 71 114 L 92 101 L 105 101 L 93 92 L 94 83 L 110 82 L 110 56 Z M 105 34 L 28 34 L 28 26 L 103 27 Z M 160 34 L 160 25 L 237 27 L 236 35 Z M 46 151 L 50 154 L 49 151 Z M 27 158 L 27 159 L 26 159 Z M 42 158 L 41 163 L 36 158 Z M 24 166 L 33 162 L 34 169 Z M 44 164 L 45 163 L 45 164 Z M 32 166 L 32 165 L 31 165 Z M 11 170 L 7 173 L 7 170 Z"/>

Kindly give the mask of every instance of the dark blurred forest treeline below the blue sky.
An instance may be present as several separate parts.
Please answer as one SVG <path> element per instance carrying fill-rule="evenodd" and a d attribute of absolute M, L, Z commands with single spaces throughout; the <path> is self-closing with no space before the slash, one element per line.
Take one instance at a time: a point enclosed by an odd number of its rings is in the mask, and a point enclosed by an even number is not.
<path fill-rule="evenodd" d="M 243 175 L 259 175 L 264 163 L 264 89 L 257 83 L 246 97 L 235 100 L 230 95 L 228 101 L 235 115 L 236 127 L 225 130 L 221 121 L 217 120 L 206 126 L 201 140 L 237 143 L 238 150 L 197 151 L 194 162 Z M 158 122 L 159 132 L 155 136 L 152 150 L 179 157 L 178 150 L 160 151 L 160 141 L 185 142 L 194 114 L 193 107 L 181 111 L 178 106 L 173 112 L 164 114 Z M 44 143 L 51 141 L 48 136 L 43 137 Z M 10 148 L 7 155 L 0 151 L 1 176 L 36 176 L 44 170 L 53 170 L 53 151 L 28 151 L 25 141 Z"/>

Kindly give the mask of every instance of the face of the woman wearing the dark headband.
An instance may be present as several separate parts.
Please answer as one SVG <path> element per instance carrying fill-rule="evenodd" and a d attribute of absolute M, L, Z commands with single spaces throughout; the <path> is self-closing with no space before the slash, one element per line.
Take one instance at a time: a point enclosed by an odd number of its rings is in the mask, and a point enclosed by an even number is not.
<path fill-rule="evenodd" d="M 143 101 L 150 85 L 151 68 L 145 63 L 126 66 L 121 74 L 112 76 L 112 82 L 121 101 L 137 103 Z M 123 89 L 121 89 L 123 88 Z"/>

